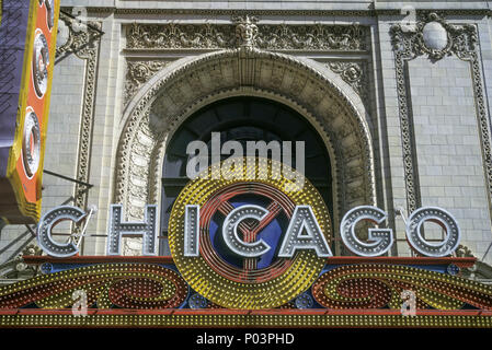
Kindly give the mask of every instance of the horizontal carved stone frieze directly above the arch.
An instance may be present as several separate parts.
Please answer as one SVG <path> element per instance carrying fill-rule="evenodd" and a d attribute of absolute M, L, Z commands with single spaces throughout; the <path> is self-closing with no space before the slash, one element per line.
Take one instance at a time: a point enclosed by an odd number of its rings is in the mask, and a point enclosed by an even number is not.
<path fill-rule="evenodd" d="M 359 25 L 259 24 L 256 18 L 233 18 L 234 24 L 137 24 L 127 28 L 127 49 L 221 49 L 258 47 L 268 50 L 368 49 L 368 27 Z"/>

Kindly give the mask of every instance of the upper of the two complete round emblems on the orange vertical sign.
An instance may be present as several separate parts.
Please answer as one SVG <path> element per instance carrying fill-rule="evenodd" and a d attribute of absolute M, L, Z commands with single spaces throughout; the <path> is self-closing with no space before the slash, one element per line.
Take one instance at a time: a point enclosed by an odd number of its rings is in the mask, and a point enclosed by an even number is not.
<path fill-rule="evenodd" d="M 33 50 L 33 79 L 34 89 L 39 98 L 44 96 L 48 86 L 48 42 L 46 40 L 45 35 L 37 30 Z"/>

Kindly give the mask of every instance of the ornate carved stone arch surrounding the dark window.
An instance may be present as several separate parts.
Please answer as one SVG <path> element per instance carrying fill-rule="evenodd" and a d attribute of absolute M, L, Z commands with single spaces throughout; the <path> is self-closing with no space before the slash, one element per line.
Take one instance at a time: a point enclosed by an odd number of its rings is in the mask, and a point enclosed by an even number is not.
<path fill-rule="evenodd" d="M 376 203 L 370 117 L 352 88 L 312 60 L 240 47 L 174 61 L 126 107 L 113 201 L 124 205 L 127 220 L 141 220 L 147 203 L 161 205 L 165 151 L 180 126 L 238 96 L 276 101 L 317 131 L 331 163 L 335 226 L 354 206 Z"/>

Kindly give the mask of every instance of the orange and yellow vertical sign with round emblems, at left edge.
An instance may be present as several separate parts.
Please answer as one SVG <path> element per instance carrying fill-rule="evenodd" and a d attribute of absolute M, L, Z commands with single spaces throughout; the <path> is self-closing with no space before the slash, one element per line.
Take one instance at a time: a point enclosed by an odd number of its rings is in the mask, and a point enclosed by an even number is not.
<path fill-rule="evenodd" d="M 59 0 L 3 0 L 1 5 L 0 218 L 35 223 Z"/>

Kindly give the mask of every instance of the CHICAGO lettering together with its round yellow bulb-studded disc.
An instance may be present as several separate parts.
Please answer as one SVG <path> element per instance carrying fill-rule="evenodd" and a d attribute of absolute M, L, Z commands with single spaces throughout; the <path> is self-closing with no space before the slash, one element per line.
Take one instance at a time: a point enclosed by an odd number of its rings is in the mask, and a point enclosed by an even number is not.
<path fill-rule="evenodd" d="M 271 162 L 256 173 L 271 172 L 272 167 Z M 168 242 L 183 279 L 203 298 L 228 308 L 274 308 L 302 294 L 333 255 L 331 218 L 321 195 L 307 179 L 298 190 L 291 190 L 295 179 L 284 175 L 262 180 L 225 179 L 224 168 L 215 171 L 220 172 L 215 174 L 219 180 L 198 177 L 191 182 L 171 211 Z M 49 211 L 38 225 L 39 246 L 54 257 L 78 254 L 77 244 L 60 244 L 52 232 L 62 220 L 82 222 L 88 217 L 73 207 Z M 367 240 L 361 240 L 356 226 L 362 221 L 381 225 L 387 217 L 370 206 L 350 210 L 340 224 L 343 243 L 359 256 L 386 254 L 394 243 L 391 229 L 369 229 Z M 123 218 L 123 206 L 112 205 L 106 254 L 122 255 L 122 237 L 130 235 L 141 237 L 142 255 L 157 255 L 158 207 L 146 206 L 140 222 Z M 446 231 L 444 241 L 425 240 L 421 232 L 426 221 Z M 422 208 L 407 221 L 407 237 L 419 253 L 442 257 L 457 248 L 460 230 L 447 211 Z"/>

